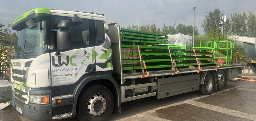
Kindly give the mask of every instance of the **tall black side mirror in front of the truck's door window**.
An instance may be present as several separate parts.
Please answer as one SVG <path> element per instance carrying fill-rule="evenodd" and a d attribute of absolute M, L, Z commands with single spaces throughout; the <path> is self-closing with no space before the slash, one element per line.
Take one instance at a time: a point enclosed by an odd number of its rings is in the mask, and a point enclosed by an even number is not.
<path fill-rule="evenodd" d="M 57 27 L 57 51 L 55 55 L 59 55 L 60 52 L 69 51 L 71 49 L 71 32 L 64 30 L 70 27 L 70 21 L 61 20 Z"/>

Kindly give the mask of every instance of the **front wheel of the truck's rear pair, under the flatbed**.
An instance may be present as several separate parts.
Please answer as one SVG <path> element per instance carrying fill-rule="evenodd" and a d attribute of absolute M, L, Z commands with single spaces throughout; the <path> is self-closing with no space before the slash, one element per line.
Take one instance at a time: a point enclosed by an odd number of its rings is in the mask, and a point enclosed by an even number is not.
<path fill-rule="evenodd" d="M 212 73 L 208 73 L 204 78 L 204 84 L 200 85 L 200 93 L 210 95 L 213 90 L 214 78 Z"/>

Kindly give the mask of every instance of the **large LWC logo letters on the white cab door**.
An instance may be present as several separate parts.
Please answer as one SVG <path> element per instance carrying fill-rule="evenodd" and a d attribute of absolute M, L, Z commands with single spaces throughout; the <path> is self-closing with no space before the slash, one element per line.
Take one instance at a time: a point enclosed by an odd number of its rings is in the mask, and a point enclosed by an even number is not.
<path fill-rule="evenodd" d="M 76 55 L 72 55 L 70 58 L 69 58 L 69 56 L 67 55 L 67 60 L 66 60 L 66 62 L 65 62 L 65 61 L 61 62 L 61 56 L 58 56 L 58 64 L 55 64 L 55 57 L 52 56 L 52 65 L 53 65 L 54 67 L 61 67 L 61 66 L 63 66 L 63 65 L 68 66 L 68 64 L 70 64 L 71 66 L 76 66 L 76 63 L 73 63 L 73 62 L 72 62 L 72 59 L 73 59 L 73 58 L 76 58 Z"/>

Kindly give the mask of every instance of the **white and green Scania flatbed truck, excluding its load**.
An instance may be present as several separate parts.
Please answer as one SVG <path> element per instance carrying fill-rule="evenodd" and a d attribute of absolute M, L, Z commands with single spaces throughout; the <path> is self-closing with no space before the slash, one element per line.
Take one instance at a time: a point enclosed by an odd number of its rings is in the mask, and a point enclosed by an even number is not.
<path fill-rule="evenodd" d="M 36 8 L 16 18 L 12 106 L 32 120 L 104 121 L 123 102 L 200 90 L 209 95 L 241 64 L 123 73 L 120 27 L 103 14 Z M 136 90 L 135 90 L 136 89 Z M 144 89 L 144 93 L 137 93 Z"/>

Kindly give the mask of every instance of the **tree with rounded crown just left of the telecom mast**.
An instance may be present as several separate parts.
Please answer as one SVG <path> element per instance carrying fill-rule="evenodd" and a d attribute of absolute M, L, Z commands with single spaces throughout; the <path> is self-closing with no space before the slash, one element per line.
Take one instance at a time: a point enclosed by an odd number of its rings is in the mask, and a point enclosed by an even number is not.
<path fill-rule="evenodd" d="M 204 22 L 202 24 L 204 33 L 207 35 L 211 32 L 211 30 L 220 31 L 219 23 L 220 23 L 220 10 L 214 9 L 213 12 L 209 11 L 205 15 Z"/>

